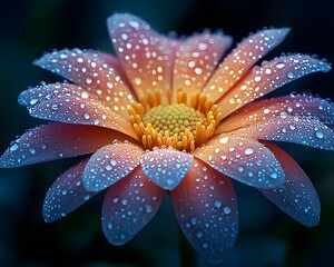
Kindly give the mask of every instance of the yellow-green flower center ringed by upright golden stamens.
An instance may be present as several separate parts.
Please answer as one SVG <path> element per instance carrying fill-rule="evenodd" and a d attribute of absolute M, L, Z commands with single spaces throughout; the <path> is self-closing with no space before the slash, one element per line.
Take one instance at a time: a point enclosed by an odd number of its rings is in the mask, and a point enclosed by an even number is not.
<path fill-rule="evenodd" d="M 216 105 L 204 93 L 177 93 L 161 105 L 160 93 L 147 93 L 141 103 L 132 101 L 128 107 L 130 122 L 147 149 L 171 146 L 178 150 L 194 151 L 214 135 L 222 116 Z"/>

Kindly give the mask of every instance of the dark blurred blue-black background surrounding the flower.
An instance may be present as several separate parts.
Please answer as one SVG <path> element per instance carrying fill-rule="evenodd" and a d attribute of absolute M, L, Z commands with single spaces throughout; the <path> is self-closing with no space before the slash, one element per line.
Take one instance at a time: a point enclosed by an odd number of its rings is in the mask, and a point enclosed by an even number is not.
<path fill-rule="evenodd" d="M 0 149 L 42 121 L 17 103 L 20 91 L 41 80 L 62 80 L 33 67 L 45 51 L 94 48 L 111 52 L 106 19 L 131 12 L 154 29 L 190 34 L 223 29 L 235 42 L 264 27 L 291 27 L 286 41 L 268 58 L 285 52 L 315 53 L 334 62 L 334 1 L 190 0 L 0 0 Z M 285 86 L 334 97 L 333 71 Z M 294 145 L 283 147 L 311 177 L 322 202 L 321 222 L 305 228 L 254 188 L 236 184 L 239 235 L 222 266 L 334 266 L 334 154 Z M 179 266 L 178 228 L 167 198 L 156 218 L 129 244 L 112 247 L 100 229 L 102 196 L 66 218 L 43 222 L 48 187 L 71 160 L 0 170 L 0 266 Z M 202 266 L 206 266 L 199 259 Z"/>

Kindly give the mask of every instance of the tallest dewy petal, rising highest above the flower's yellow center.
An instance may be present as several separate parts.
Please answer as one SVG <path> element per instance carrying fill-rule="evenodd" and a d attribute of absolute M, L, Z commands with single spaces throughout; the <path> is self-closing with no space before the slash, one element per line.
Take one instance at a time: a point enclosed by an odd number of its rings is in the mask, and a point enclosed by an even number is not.
<path fill-rule="evenodd" d="M 167 96 L 177 41 L 159 36 L 131 14 L 114 14 L 107 23 L 117 57 L 137 97 L 141 99 L 154 90 Z"/>

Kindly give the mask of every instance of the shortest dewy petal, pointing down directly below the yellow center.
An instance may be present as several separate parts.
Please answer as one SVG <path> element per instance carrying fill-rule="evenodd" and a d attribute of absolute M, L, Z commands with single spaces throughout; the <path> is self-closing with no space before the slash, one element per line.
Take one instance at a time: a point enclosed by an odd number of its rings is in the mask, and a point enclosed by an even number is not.
<path fill-rule="evenodd" d="M 140 158 L 140 165 L 148 178 L 166 190 L 173 190 L 191 167 L 190 154 L 171 148 L 155 149 Z"/>

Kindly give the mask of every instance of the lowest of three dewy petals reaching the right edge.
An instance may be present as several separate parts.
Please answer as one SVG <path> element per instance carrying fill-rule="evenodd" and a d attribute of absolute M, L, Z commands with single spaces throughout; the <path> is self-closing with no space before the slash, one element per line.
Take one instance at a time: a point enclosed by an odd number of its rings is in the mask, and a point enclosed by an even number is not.
<path fill-rule="evenodd" d="M 235 135 L 262 140 L 287 141 L 318 149 L 334 150 L 334 131 L 312 118 L 283 113 L 238 130 Z"/>

